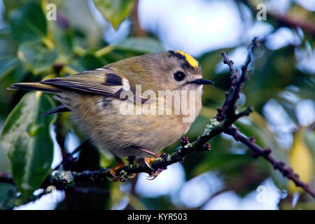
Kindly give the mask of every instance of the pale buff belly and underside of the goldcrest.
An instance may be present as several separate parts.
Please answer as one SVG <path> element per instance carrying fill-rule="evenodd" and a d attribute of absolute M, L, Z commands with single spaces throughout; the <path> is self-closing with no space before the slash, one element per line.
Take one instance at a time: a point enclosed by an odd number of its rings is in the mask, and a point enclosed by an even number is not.
<path fill-rule="evenodd" d="M 196 117 L 201 109 L 201 91 L 196 95 Z M 159 152 L 179 140 L 191 125 L 183 123 L 181 115 L 123 115 L 121 99 L 68 91 L 58 95 L 56 99 L 72 111 L 75 123 L 99 150 L 118 157 L 148 156 L 134 146 Z"/>

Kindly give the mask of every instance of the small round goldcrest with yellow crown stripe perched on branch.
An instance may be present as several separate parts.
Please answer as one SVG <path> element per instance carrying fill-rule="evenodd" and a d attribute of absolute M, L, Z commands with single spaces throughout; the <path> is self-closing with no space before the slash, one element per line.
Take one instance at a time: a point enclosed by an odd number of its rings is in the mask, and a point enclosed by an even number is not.
<path fill-rule="evenodd" d="M 121 165 L 119 158 L 122 157 L 143 158 L 148 154 L 158 157 L 157 152 L 186 134 L 200 113 L 202 86 L 212 83 L 202 79 L 202 68 L 195 58 L 186 52 L 169 50 L 123 59 L 100 69 L 72 76 L 46 79 L 37 83 L 15 83 L 9 89 L 55 94 L 55 99 L 62 105 L 45 115 L 71 111 L 75 123 L 92 139 L 97 148 L 113 154 Z M 137 92 L 139 86 L 141 92 Z M 188 92 L 190 97 L 187 97 L 186 103 L 193 102 L 195 106 L 193 119 L 183 122 L 184 115 L 181 113 L 121 113 L 121 106 L 126 101 L 126 97 L 121 97 L 122 92 L 130 91 L 134 94 L 133 102 L 127 100 L 129 106 L 140 99 L 141 107 L 150 102 L 149 97 L 141 95 L 146 90 L 157 95 L 159 90 Z M 162 98 L 165 99 L 165 96 Z M 172 104 L 166 106 L 162 102 L 165 106 L 163 112 L 174 112 L 175 101 L 173 97 Z M 149 104 L 153 105 L 152 100 Z M 156 105 L 158 104 L 159 101 Z M 139 105 L 133 111 L 137 107 Z M 148 163 L 150 161 L 146 160 Z"/>

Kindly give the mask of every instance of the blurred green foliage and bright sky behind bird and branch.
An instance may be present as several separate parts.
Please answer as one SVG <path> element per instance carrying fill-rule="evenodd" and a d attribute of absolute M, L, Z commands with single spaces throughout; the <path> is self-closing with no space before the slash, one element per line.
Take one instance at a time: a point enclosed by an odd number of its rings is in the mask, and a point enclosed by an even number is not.
<path fill-rule="evenodd" d="M 41 193 L 36 189 L 51 168 L 86 138 L 69 113 L 39 116 L 58 104 L 50 94 L 6 90 L 12 83 L 67 76 L 148 52 L 185 50 L 199 59 L 204 77 L 216 82 L 204 87 L 204 106 L 188 132 L 193 140 L 230 87 L 221 52 L 239 67 L 246 46 L 260 35 L 262 45 L 239 100 L 239 108 L 253 104 L 255 112 L 236 125 L 314 188 L 313 0 L 0 2 L 0 172 L 12 174 L 16 183 L 0 183 L 1 209 L 315 209 L 314 199 L 225 134 L 211 140 L 211 152 L 189 156 L 155 181 L 141 174 L 127 183 L 57 191 L 56 202 L 42 197 L 20 206 Z M 53 15 L 50 3 L 57 20 L 47 20 Z M 257 19 L 259 3 L 267 6 L 267 20 Z M 76 157 L 78 171 L 115 165 L 92 147 Z M 260 193 L 265 200 L 258 200 Z"/>

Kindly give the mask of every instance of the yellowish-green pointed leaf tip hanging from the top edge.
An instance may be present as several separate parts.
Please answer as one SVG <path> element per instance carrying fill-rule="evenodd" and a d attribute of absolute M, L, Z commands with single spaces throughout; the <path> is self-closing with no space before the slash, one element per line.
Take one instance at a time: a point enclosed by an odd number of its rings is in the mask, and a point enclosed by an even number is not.
<path fill-rule="evenodd" d="M 97 9 L 115 29 L 132 12 L 134 0 L 94 0 Z"/>

